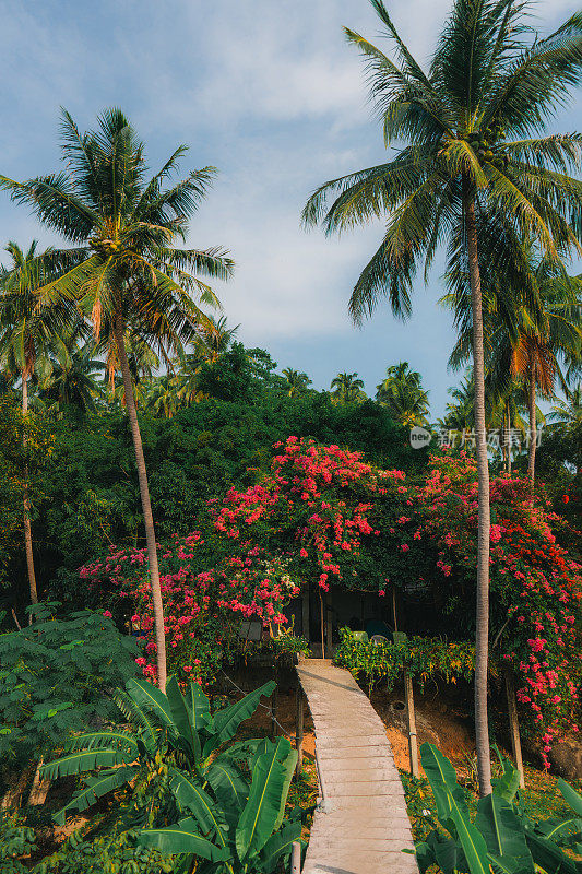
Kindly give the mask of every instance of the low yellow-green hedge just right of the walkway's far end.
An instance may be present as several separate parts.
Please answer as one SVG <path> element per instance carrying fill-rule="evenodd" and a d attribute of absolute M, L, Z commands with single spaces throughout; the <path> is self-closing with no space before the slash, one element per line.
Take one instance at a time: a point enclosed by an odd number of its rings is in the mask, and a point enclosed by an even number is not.
<path fill-rule="evenodd" d="M 372 643 L 356 640 L 349 628 L 341 628 L 340 638 L 335 663 L 347 668 L 355 677 L 364 675 L 370 689 L 380 680 L 389 690 L 393 689 L 404 670 L 421 686 L 437 674 L 447 683 L 456 683 L 461 677 L 468 681 L 475 670 L 475 647 L 468 641 L 411 637 Z"/>

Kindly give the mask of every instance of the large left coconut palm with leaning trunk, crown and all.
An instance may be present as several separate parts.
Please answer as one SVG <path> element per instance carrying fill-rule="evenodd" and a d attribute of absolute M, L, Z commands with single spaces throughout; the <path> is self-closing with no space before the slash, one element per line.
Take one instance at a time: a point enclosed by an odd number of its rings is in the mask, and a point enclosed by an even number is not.
<path fill-rule="evenodd" d="M 64 169 L 16 182 L 0 176 L 0 185 L 19 203 L 73 244 L 75 264 L 38 292 L 37 306 L 74 300 L 88 314 L 96 342 L 106 350 L 110 373 L 120 370 L 131 427 L 144 517 L 150 581 L 155 618 L 157 682 L 166 683 L 164 609 L 154 520 L 133 381 L 126 345 L 127 332 L 152 346 L 167 361 L 171 352 L 207 323 L 194 303 L 216 305 L 212 290 L 197 274 L 226 280 L 233 261 L 219 249 L 179 249 L 187 222 L 204 199 L 213 167 L 190 173 L 165 187 L 186 152 L 180 145 L 149 181 L 144 145 L 120 109 L 108 109 L 98 129 L 80 133 L 63 113 L 61 151 Z"/>

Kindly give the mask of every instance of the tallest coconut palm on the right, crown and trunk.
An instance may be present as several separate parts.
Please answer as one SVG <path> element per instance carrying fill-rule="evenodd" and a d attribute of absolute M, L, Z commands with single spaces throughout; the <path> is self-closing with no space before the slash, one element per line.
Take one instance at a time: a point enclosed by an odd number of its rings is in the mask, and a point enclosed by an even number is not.
<path fill-rule="evenodd" d="M 388 296 L 395 315 L 411 311 L 419 262 L 425 274 L 449 244 L 463 263 L 473 308 L 473 368 L 478 475 L 475 727 L 479 791 L 491 791 L 487 723 L 489 629 L 489 468 L 479 246 L 507 277 L 520 275 L 521 240 L 542 249 L 578 246 L 582 182 L 580 134 L 542 135 L 582 75 L 582 14 L 538 38 L 525 28 L 528 0 L 454 0 L 428 72 L 402 42 L 382 2 L 371 0 L 394 60 L 359 34 L 347 39 L 367 61 L 384 143 L 404 141 L 388 163 L 333 179 L 310 197 L 304 222 L 342 232 L 373 218 L 387 223 L 379 249 L 352 293 L 356 322 Z M 329 199 L 333 202 L 329 204 Z M 490 217 L 492 216 L 492 217 Z M 525 288 L 528 294 L 534 290 Z"/>

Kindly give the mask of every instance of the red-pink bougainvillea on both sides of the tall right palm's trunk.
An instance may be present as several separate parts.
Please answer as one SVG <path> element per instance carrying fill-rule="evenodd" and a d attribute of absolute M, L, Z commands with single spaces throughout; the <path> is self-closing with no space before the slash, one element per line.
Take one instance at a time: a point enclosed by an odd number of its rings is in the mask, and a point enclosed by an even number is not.
<path fill-rule="evenodd" d="M 430 462 L 426 483 L 417 491 L 421 535 L 438 548 L 448 610 L 467 614 L 477 548 L 475 460 L 443 453 Z M 498 639 L 502 658 L 521 674 L 518 699 L 543 741 L 546 767 L 558 732 L 578 731 L 582 668 L 577 630 L 581 566 L 557 543 L 550 523 L 558 520 L 548 508 L 543 497 L 532 500 L 524 480 L 491 481 L 491 637 Z"/>

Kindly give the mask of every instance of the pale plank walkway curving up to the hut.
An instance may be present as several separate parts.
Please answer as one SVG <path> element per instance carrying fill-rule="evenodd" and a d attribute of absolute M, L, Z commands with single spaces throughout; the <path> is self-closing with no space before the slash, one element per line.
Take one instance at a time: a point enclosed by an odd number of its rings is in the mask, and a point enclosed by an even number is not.
<path fill-rule="evenodd" d="M 418 874 L 404 790 L 384 725 L 348 671 L 297 665 L 316 728 L 320 795 L 304 874 Z"/>

